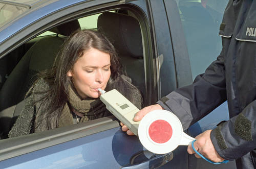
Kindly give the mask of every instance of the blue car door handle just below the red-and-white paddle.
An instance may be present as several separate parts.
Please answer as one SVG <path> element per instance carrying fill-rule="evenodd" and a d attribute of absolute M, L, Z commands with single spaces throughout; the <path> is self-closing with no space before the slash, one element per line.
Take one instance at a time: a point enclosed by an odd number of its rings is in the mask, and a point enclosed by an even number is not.
<path fill-rule="evenodd" d="M 140 155 L 144 154 L 145 151 L 138 153 L 131 159 L 131 164 L 121 167 L 122 169 L 129 169 L 129 168 L 156 168 L 159 166 L 162 166 L 172 160 L 174 158 L 173 152 L 167 153 L 167 154 L 153 154 L 153 156 L 145 160 L 143 162 L 137 162 L 134 163 L 136 158 L 138 158 Z"/>

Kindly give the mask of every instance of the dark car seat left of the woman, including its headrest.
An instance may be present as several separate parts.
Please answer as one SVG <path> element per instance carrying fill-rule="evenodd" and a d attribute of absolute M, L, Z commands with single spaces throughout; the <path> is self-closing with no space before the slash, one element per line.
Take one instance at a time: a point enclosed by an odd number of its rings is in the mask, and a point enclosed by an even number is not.
<path fill-rule="evenodd" d="M 68 36 L 80 28 L 78 21 L 65 23 L 51 31 Z M 72 25 L 72 27 L 71 27 Z M 79 27 L 78 27 L 79 26 Z M 35 75 L 51 68 L 65 38 L 47 36 L 38 40 L 22 57 L 0 90 L 0 136 L 6 138 L 25 103 L 24 98 Z"/>

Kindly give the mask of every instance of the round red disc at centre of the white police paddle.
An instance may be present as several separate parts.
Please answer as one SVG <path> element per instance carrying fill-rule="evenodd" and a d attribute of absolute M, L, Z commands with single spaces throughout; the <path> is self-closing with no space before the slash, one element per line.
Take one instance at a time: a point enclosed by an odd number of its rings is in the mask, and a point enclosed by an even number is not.
<path fill-rule="evenodd" d="M 165 120 L 159 119 L 153 122 L 148 129 L 150 138 L 157 143 L 167 142 L 173 135 L 172 126 Z"/>

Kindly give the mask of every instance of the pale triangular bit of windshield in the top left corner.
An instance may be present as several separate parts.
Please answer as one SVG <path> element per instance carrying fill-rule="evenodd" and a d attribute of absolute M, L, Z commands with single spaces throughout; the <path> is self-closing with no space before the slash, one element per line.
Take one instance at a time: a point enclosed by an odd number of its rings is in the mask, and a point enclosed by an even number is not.
<path fill-rule="evenodd" d="M 26 12 L 29 8 L 0 3 L 0 28 Z"/>

